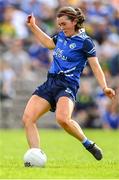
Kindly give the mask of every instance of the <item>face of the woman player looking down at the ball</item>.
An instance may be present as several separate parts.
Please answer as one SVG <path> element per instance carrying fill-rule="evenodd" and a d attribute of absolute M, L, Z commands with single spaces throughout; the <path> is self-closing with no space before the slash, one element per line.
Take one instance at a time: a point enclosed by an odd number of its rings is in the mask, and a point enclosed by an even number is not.
<path fill-rule="evenodd" d="M 63 31 L 66 36 L 69 36 L 69 37 L 76 34 L 76 31 L 75 31 L 76 23 L 77 23 L 76 20 L 71 21 L 70 19 L 68 19 L 67 16 L 62 16 L 62 17 L 57 18 L 57 24 L 60 30 Z"/>

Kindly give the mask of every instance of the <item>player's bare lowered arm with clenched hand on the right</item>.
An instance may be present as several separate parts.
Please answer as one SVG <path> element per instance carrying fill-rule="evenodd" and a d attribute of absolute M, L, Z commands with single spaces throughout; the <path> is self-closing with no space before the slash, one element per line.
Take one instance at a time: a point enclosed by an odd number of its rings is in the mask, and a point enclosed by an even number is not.
<path fill-rule="evenodd" d="M 115 96 L 115 91 L 107 87 L 105 75 L 102 71 L 102 68 L 98 62 L 97 57 L 89 57 L 88 62 L 105 95 L 108 96 L 109 98 L 113 98 Z"/>

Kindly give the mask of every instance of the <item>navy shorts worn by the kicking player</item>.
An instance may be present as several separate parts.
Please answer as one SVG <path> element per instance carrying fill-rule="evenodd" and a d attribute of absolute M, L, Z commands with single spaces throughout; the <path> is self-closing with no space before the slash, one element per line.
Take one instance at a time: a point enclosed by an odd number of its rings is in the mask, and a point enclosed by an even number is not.
<path fill-rule="evenodd" d="M 38 86 L 33 95 L 46 99 L 51 105 L 51 111 L 54 112 L 56 103 L 62 96 L 69 97 L 75 102 L 78 88 L 76 83 L 68 82 L 62 74 L 48 74 L 47 81 Z"/>

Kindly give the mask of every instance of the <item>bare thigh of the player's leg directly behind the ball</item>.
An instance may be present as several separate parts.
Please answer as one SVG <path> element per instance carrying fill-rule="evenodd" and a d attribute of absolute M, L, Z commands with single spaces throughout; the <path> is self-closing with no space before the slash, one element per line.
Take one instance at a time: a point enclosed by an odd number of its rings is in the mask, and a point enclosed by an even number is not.
<path fill-rule="evenodd" d="M 27 120 L 35 122 L 39 117 L 48 112 L 50 108 L 51 106 L 47 100 L 33 95 L 26 105 L 23 122 Z"/>

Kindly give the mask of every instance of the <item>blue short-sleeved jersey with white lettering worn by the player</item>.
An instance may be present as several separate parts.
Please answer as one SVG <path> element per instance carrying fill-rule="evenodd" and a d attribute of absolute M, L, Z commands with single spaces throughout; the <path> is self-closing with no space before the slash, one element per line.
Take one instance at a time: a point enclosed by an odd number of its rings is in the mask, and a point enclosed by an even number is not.
<path fill-rule="evenodd" d="M 67 37 L 61 31 L 53 36 L 56 44 L 49 73 L 64 73 L 68 81 L 79 83 L 80 75 L 88 57 L 95 57 L 96 50 L 92 39 L 84 29 L 79 34 Z"/>

